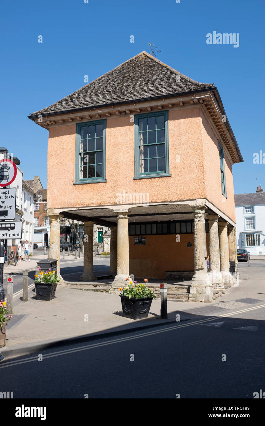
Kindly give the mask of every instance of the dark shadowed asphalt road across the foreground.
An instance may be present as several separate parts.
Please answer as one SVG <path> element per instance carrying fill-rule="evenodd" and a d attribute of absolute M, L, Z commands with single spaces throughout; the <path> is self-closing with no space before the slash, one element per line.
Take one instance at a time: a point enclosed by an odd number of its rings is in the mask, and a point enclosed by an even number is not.
<path fill-rule="evenodd" d="M 264 318 L 265 307 L 194 324 L 200 315 L 46 349 L 1 364 L 1 382 L 14 398 L 252 399 L 264 388 Z"/>

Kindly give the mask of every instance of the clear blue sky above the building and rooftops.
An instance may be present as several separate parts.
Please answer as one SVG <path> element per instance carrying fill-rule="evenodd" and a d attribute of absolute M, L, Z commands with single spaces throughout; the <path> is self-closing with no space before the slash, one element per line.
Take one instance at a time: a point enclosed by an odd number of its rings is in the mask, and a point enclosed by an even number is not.
<path fill-rule="evenodd" d="M 233 166 L 235 193 L 255 192 L 256 178 L 265 188 L 265 164 L 253 164 L 265 153 L 262 0 L 14 0 L 1 9 L 1 146 L 20 158 L 24 179 L 47 184 L 48 131 L 27 116 L 154 40 L 158 59 L 217 86 L 244 158 Z M 239 33 L 239 47 L 206 44 L 214 31 Z"/>

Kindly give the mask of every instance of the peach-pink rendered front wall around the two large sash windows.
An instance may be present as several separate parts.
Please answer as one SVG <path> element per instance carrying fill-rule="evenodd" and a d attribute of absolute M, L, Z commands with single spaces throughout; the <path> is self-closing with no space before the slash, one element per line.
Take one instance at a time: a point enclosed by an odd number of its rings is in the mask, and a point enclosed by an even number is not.
<path fill-rule="evenodd" d="M 149 202 L 205 196 L 199 108 L 169 111 L 171 177 L 133 180 L 134 124 L 130 117 L 107 120 L 107 182 L 73 185 L 76 125 L 54 127 L 48 140 L 48 208 L 116 204 L 117 193 L 149 193 Z M 179 156 L 179 157 L 178 157 Z M 177 162 L 177 158 L 180 159 Z"/>

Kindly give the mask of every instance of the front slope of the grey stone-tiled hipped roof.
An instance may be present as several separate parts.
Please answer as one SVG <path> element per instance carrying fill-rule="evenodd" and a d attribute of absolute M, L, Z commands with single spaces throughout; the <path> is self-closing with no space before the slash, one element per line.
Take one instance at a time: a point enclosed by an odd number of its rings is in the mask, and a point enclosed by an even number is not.
<path fill-rule="evenodd" d="M 214 84 L 194 81 L 149 53 L 141 52 L 66 98 L 30 116 L 93 108 L 213 87 Z"/>

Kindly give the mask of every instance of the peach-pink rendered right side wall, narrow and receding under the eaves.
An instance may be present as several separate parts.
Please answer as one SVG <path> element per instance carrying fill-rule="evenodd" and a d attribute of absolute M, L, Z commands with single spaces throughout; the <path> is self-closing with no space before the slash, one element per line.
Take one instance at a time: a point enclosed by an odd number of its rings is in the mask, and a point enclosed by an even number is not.
<path fill-rule="evenodd" d="M 212 204 L 224 212 L 234 222 L 236 221 L 234 203 L 234 183 L 231 162 L 225 153 L 225 147 L 220 141 L 225 158 L 225 180 L 227 198 L 222 196 L 221 172 L 218 140 L 210 124 L 202 113 L 202 140 L 205 164 L 206 197 Z"/>

